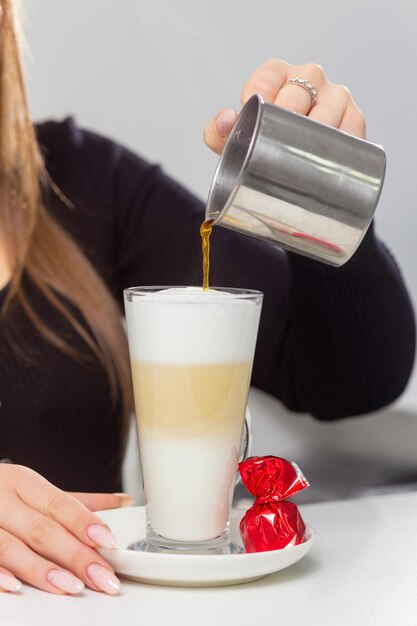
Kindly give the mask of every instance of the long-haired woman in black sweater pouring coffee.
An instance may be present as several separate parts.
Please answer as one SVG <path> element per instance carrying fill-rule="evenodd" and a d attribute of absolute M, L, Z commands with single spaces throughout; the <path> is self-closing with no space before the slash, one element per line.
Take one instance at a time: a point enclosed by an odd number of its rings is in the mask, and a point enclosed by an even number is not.
<path fill-rule="evenodd" d="M 71 120 L 34 128 L 11 0 L 0 7 L 0 458 L 9 460 L 0 464 L 0 589 L 18 590 L 21 579 L 56 594 L 117 593 L 95 550 L 113 537 L 92 511 L 126 501 L 113 493 L 132 410 L 122 289 L 200 284 L 204 207 Z M 317 103 L 292 77 L 314 84 Z M 242 103 L 256 92 L 365 136 L 348 90 L 317 65 L 270 60 Z M 216 152 L 236 115 L 225 109 L 207 125 Z M 373 227 L 340 269 L 217 229 L 212 267 L 213 284 L 265 293 L 253 384 L 289 408 L 337 419 L 402 392 L 413 313 Z"/>

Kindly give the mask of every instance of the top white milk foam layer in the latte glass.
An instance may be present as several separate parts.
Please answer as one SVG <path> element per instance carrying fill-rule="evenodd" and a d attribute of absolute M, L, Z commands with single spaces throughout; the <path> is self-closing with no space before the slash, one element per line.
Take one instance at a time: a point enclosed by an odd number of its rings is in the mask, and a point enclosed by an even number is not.
<path fill-rule="evenodd" d="M 261 304 L 196 287 L 133 297 L 126 307 L 132 359 L 197 364 L 251 359 Z"/>

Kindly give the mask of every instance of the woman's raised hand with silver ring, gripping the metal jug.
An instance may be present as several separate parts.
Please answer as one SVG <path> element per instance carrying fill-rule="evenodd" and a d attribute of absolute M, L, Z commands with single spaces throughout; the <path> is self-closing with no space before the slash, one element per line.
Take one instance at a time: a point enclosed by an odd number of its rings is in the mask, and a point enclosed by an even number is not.
<path fill-rule="evenodd" d="M 290 78 L 309 80 L 317 89 L 317 102 L 303 87 L 288 84 Z M 258 67 L 249 77 L 242 91 L 242 104 L 255 93 L 285 109 L 307 115 L 312 120 L 335 126 L 351 135 L 365 138 L 366 126 L 363 113 L 343 85 L 334 85 L 325 76 L 320 65 L 289 65 L 279 59 L 270 59 Z M 237 118 L 233 109 L 222 109 L 204 129 L 204 141 L 209 148 L 221 153 L 226 139 Z"/>

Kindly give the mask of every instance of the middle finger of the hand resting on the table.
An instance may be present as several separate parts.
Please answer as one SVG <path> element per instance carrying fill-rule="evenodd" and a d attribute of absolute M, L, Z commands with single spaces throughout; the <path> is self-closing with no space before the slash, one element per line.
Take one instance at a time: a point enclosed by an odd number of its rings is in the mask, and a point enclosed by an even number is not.
<path fill-rule="evenodd" d="M 8 507 L 1 527 L 20 539 L 33 552 L 73 572 L 96 591 L 118 593 L 120 583 L 110 565 L 91 547 L 79 541 L 54 520 L 34 511 L 23 502 Z"/>

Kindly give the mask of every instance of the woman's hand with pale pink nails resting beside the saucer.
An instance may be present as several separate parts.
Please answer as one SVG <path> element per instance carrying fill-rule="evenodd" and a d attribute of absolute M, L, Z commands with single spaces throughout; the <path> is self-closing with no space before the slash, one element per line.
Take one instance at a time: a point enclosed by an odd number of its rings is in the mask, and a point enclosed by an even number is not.
<path fill-rule="evenodd" d="M 118 579 L 96 551 L 114 547 L 114 537 L 87 508 L 116 506 L 117 494 L 67 494 L 27 467 L 0 464 L 0 591 L 18 591 L 20 579 L 56 594 L 84 585 L 118 593 Z"/>

